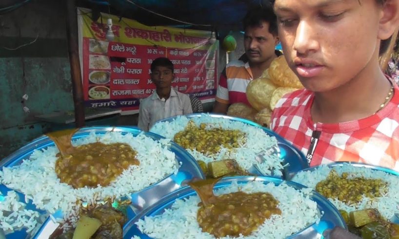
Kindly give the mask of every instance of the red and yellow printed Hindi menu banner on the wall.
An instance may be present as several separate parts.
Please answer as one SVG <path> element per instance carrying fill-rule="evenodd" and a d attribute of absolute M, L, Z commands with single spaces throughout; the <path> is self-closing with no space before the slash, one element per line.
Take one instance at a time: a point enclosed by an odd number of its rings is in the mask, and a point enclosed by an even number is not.
<path fill-rule="evenodd" d="M 105 38 L 112 19 L 113 40 Z M 214 101 L 217 87 L 218 41 L 211 32 L 146 26 L 136 20 L 78 9 L 83 94 L 87 107 L 120 108 L 137 113 L 140 100 L 155 91 L 150 65 L 159 57 L 175 67 L 172 87 L 202 102 Z"/>

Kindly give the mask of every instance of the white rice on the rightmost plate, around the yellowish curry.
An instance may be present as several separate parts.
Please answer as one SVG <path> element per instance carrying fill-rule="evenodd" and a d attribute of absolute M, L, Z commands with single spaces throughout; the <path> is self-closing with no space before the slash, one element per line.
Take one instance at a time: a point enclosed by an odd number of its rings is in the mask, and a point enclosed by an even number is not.
<path fill-rule="evenodd" d="M 334 170 L 341 175 L 344 172 L 350 173 L 352 178 L 365 179 L 382 179 L 387 182 L 388 192 L 382 197 L 374 198 L 373 200 L 363 197 L 363 199 L 356 204 L 346 205 L 338 199 L 330 200 L 339 210 L 345 210 L 348 213 L 356 210 L 366 208 L 376 208 L 379 213 L 386 219 L 394 217 L 395 213 L 399 212 L 399 177 L 385 173 L 383 171 L 373 170 L 366 167 L 354 167 L 349 163 L 344 163 L 342 166 L 335 166 Z M 320 165 L 317 170 L 299 172 L 292 180 L 307 187 L 316 188 L 319 181 L 327 178 L 331 168 L 327 165 Z"/>

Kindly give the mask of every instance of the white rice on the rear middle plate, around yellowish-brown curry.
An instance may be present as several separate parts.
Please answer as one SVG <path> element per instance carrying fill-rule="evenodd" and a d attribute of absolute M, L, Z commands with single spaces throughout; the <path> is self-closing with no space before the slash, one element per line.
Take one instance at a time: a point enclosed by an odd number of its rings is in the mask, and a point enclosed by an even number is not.
<path fill-rule="evenodd" d="M 260 152 L 277 147 L 277 139 L 267 135 L 261 128 L 239 121 L 210 117 L 208 114 L 202 114 L 201 117 L 194 117 L 191 120 L 197 126 L 201 123 L 208 124 L 206 129 L 223 128 L 226 130 L 239 130 L 246 134 L 245 142 L 239 148 L 233 150 L 221 147 L 217 154 L 206 155 L 195 149 L 187 149 L 195 159 L 202 160 L 205 163 L 222 159 L 236 159 L 239 166 L 244 170 L 249 170 L 256 164 L 263 175 L 282 175 L 281 160 L 277 154 L 265 156 L 265 160 L 261 163 L 256 158 Z M 184 130 L 189 121 L 190 119 L 185 116 L 178 116 L 171 122 L 156 123 L 150 131 L 173 140 L 177 133 Z"/>

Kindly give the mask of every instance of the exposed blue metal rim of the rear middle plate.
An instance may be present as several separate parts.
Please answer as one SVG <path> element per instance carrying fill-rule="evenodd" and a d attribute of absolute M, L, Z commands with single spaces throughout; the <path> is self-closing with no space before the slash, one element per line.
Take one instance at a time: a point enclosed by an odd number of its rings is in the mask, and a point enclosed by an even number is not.
<path fill-rule="evenodd" d="M 196 117 L 201 117 L 203 115 L 209 116 L 209 117 L 214 117 L 214 118 L 223 118 L 223 119 L 229 119 L 233 121 L 239 121 L 242 123 L 249 124 L 254 127 L 259 127 L 261 128 L 266 134 L 270 136 L 274 136 L 277 139 L 277 145 L 278 147 L 271 149 L 272 151 L 275 151 L 279 154 L 280 159 L 282 160 L 282 164 L 289 163 L 287 167 L 284 167 L 284 170 L 282 172 L 282 177 L 277 177 L 277 178 L 282 178 L 282 179 L 291 179 L 298 171 L 308 168 L 309 164 L 306 160 L 306 157 L 303 155 L 303 153 L 295 148 L 290 142 L 288 142 L 286 139 L 282 138 L 279 136 L 277 133 L 273 132 L 272 130 L 262 127 L 260 124 L 255 123 L 249 119 L 242 119 L 238 117 L 231 117 L 231 116 L 226 116 L 226 115 L 219 115 L 219 114 L 203 114 L 203 113 L 195 113 L 195 114 L 189 114 L 189 115 L 184 115 L 188 119 L 196 118 Z M 175 120 L 177 117 L 170 117 L 166 119 L 162 119 L 158 122 L 171 122 Z M 263 175 L 258 167 L 254 165 L 250 170 L 250 173 L 258 176 L 266 176 Z"/>

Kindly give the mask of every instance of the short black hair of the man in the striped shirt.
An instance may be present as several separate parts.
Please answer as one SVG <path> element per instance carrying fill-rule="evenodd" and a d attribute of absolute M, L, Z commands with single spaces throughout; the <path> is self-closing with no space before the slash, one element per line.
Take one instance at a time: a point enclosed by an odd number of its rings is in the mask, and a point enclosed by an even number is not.
<path fill-rule="evenodd" d="M 262 5 L 251 7 L 244 19 L 242 25 L 244 31 L 247 27 L 259 26 L 262 21 L 269 23 L 269 32 L 274 36 L 277 36 L 277 17 L 273 10 L 273 4 L 265 0 Z"/>

